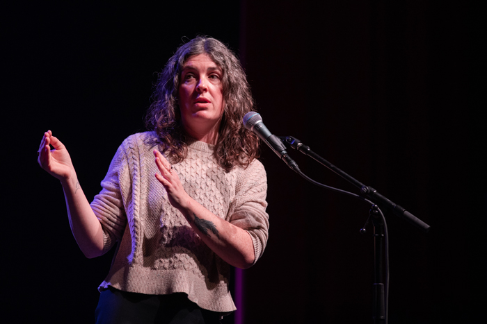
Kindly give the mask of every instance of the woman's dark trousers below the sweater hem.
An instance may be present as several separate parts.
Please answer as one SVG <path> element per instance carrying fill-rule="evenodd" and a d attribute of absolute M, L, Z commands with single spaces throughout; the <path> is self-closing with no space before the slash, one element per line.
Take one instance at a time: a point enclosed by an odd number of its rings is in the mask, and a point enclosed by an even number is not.
<path fill-rule="evenodd" d="M 202 309 L 185 293 L 145 295 L 109 287 L 99 296 L 97 324 L 218 324 L 221 313 Z"/>

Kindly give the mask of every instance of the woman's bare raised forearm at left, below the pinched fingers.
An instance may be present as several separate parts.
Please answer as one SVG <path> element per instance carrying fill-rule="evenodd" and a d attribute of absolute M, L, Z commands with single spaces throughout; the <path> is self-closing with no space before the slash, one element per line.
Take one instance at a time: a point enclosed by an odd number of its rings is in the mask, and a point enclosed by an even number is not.
<path fill-rule="evenodd" d="M 97 216 L 79 185 L 76 173 L 61 180 L 74 239 L 86 257 L 97 257 L 103 251 L 103 230 Z"/>

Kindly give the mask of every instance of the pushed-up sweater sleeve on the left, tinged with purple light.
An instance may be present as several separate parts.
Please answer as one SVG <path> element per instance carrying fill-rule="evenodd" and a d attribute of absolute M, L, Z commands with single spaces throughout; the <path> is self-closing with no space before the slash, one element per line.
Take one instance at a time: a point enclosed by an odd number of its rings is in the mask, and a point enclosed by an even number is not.
<path fill-rule="evenodd" d="M 122 238 L 125 225 L 127 224 L 120 178 L 125 178 L 128 173 L 127 159 L 122 146 L 120 146 L 111 161 L 109 171 L 102 181 L 102 191 L 93 198 L 93 202 L 90 204 L 97 219 L 102 224 L 103 253 L 109 251 L 115 245 L 115 242 Z"/>

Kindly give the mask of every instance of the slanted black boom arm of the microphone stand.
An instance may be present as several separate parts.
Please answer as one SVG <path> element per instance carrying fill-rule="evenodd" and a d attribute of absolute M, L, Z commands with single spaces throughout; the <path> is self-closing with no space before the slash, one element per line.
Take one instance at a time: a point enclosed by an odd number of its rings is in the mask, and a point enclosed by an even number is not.
<path fill-rule="evenodd" d="M 362 182 L 359 182 L 355 178 L 349 176 L 349 174 L 345 173 L 344 171 L 338 169 L 335 167 L 335 165 L 331 164 L 327 160 L 325 160 L 323 157 L 319 156 L 317 153 L 314 153 L 313 151 L 310 150 L 308 146 L 303 145 L 298 139 L 292 137 L 292 136 L 287 136 L 287 137 L 280 137 L 282 142 L 286 144 L 286 146 L 290 146 L 301 153 L 308 155 L 311 157 L 313 160 L 316 160 L 317 162 L 323 164 L 325 167 L 330 169 L 331 171 L 337 173 L 338 176 L 341 176 L 345 180 L 351 182 L 352 185 L 355 185 L 356 187 L 360 188 L 360 194 L 362 196 L 367 196 L 370 198 L 371 201 L 374 201 L 375 203 L 385 205 L 388 207 L 394 214 L 397 216 L 401 217 L 401 219 L 404 219 L 405 221 L 408 221 L 408 223 L 416 226 L 417 228 L 420 228 L 423 232 L 428 232 L 430 226 L 421 219 L 418 219 L 416 216 L 405 210 L 403 207 L 393 203 L 390 201 L 388 198 L 385 198 L 385 196 L 379 194 L 376 189 L 366 186 L 362 184 Z"/>

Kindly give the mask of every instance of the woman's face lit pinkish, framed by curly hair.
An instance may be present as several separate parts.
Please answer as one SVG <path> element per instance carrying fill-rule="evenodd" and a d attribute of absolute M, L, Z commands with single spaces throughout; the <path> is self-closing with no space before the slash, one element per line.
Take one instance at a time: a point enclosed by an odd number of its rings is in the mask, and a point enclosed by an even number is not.
<path fill-rule="evenodd" d="M 190 136 L 217 135 L 223 116 L 223 71 L 207 56 L 191 56 L 184 62 L 179 82 L 179 108 Z"/>

